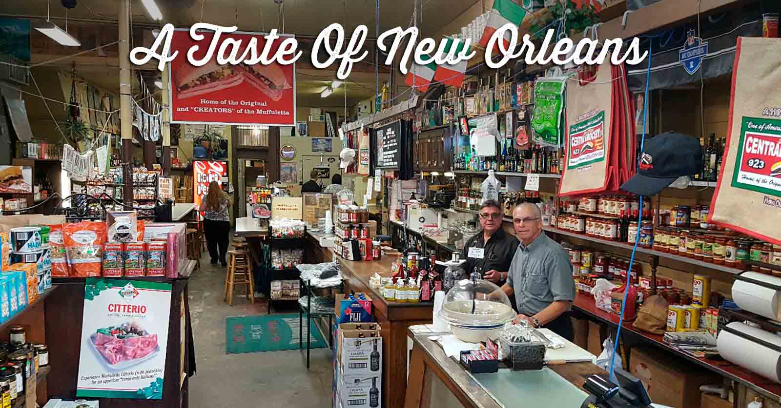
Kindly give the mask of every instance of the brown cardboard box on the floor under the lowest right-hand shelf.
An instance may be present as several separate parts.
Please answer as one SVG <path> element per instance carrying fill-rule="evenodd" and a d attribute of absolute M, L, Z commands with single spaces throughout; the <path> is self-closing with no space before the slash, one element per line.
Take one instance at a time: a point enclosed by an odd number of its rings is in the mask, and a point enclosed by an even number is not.
<path fill-rule="evenodd" d="M 642 347 L 632 349 L 629 372 L 643 381 L 651 401 L 682 408 L 699 408 L 700 385 L 723 381 L 720 375 L 676 359 L 669 353 Z"/>

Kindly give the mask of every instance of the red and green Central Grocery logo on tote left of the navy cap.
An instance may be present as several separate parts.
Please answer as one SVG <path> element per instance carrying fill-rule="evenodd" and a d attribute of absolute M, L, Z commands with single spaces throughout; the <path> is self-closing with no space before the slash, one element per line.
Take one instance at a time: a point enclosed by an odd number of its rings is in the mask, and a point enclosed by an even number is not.
<path fill-rule="evenodd" d="M 604 111 L 569 126 L 567 169 L 604 160 Z"/>

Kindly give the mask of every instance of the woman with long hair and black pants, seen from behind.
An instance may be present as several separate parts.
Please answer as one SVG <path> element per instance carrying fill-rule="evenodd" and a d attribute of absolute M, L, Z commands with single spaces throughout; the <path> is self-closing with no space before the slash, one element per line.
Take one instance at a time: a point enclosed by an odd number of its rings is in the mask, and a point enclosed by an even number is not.
<path fill-rule="evenodd" d="M 223 189 L 219 188 L 219 183 L 216 181 L 209 183 L 209 193 L 203 198 L 200 209 L 205 211 L 203 229 L 206 235 L 206 248 L 209 250 L 209 256 L 212 257 L 212 265 L 217 264 L 218 259 L 223 266 L 228 264 L 225 256 L 228 252 L 230 235 L 229 205 L 230 199 Z"/>

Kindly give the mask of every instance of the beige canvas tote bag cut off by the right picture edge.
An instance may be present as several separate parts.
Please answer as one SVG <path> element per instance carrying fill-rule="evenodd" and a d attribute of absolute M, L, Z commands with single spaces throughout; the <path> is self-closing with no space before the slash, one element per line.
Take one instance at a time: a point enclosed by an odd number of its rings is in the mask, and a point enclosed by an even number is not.
<path fill-rule="evenodd" d="M 781 39 L 738 37 L 729 127 L 708 222 L 781 244 Z"/>

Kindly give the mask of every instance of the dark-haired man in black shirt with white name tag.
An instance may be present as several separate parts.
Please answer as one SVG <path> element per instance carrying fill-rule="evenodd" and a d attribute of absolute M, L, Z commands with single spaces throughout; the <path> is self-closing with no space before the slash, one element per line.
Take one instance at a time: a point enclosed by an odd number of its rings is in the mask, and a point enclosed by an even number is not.
<path fill-rule="evenodd" d="M 518 247 L 518 239 L 501 228 L 501 208 L 496 200 L 485 200 L 479 211 L 483 230 L 466 241 L 462 268 L 467 275 L 477 271 L 498 286 L 507 281 L 507 271 Z"/>

